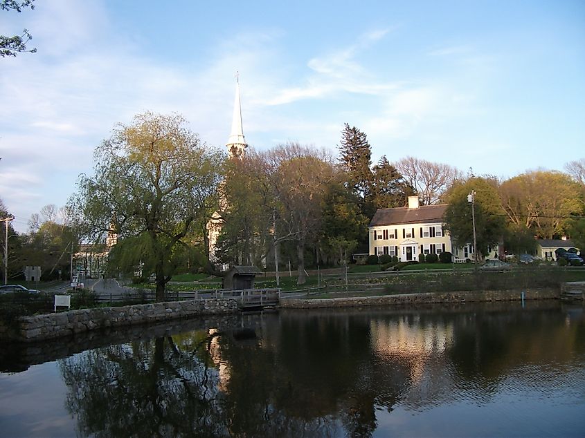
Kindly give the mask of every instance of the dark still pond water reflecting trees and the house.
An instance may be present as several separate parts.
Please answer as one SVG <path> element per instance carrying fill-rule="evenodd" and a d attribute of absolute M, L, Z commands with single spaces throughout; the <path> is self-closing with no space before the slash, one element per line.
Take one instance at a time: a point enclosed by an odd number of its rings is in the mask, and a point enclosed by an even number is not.
<path fill-rule="evenodd" d="M 5 437 L 583 437 L 559 302 L 289 310 L 1 345 Z"/>

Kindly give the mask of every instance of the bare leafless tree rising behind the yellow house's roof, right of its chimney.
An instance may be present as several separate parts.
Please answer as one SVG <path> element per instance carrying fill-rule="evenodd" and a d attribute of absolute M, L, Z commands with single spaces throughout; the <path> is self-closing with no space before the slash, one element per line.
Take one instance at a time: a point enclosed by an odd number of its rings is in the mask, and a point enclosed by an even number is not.
<path fill-rule="evenodd" d="M 449 164 L 406 157 L 394 164 L 402 178 L 418 194 L 422 205 L 438 204 L 441 196 L 462 173 Z"/>

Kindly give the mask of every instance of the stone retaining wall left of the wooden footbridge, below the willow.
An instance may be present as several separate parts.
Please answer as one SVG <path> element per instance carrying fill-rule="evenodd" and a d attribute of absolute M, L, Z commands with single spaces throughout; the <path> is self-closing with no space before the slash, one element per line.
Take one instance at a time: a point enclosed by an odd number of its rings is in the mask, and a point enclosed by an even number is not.
<path fill-rule="evenodd" d="M 69 312 L 24 316 L 19 319 L 19 327 L 12 327 L 12 329 L 0 327 L 0 339 L 23 342 L 41 341 L 108 327 L 235 312 L 237 312 L 237 301 L 234 298 L 71 310 Z"/>

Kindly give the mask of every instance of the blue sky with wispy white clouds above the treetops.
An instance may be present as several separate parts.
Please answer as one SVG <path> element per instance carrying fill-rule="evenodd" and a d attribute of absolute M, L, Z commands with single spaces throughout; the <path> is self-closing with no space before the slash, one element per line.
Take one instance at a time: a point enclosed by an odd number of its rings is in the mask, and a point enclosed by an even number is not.
<path fill-rule="evenodd" d="M 280 4 L 282 3 L 282 4 Z M 286 3 L 286 4 L 285 4 Z M 239 72 L 251 147 L 408 155 L 476 175 L 585 157 L 585 1 L 36 0 L 0 11 L 0 198 L 17 231 L 62 207 L 116 124 L 180 113 L 224 148 Z"/>

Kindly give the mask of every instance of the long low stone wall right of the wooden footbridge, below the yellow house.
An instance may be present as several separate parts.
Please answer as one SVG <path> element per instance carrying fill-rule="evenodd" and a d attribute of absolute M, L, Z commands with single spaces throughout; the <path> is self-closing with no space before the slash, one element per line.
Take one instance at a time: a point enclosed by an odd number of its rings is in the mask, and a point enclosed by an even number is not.
<path fill-rule="evenodd" d="M 429 292 L 426 294 L 397 294 L 348 298 L 296 299 L 281 298 L 280 307 L 315 309 L 319 307 L 362 307 L 384 305 L 417 305 L 429 303 L 473 303 L 489 301 L 547 300 L 559 298 L 559 289 L 528 289 L 483 292 Z"/>

